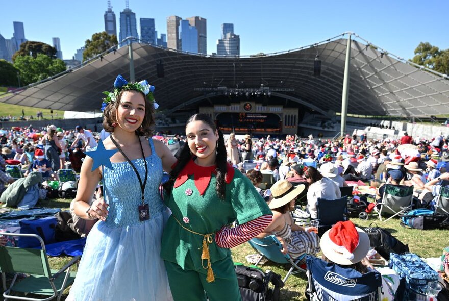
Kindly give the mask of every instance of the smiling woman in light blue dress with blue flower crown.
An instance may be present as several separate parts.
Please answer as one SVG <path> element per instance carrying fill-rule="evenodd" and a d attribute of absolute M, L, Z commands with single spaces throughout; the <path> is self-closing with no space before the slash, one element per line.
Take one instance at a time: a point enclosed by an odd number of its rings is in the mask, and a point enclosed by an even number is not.
<path fill-rule="evenodd" d="M 161 236 L 168 212 L 159 185 L 163 170 L 176 162 L 168 147 L 149 138 L 154 126 L 153 86 L 128 83 L 118 76 L 104 99 L 103 126 L 111 135 L 105 149 L 113 169 L 95 166 L 86 157 L 81 168 L 74 212 L 99 221 L 87 243 L 67 300 L 171 300 Z M 149 138 L 149 139 L 148 139 Z M 89 153 L 87 153 L 89 154 Z M 97 183 L 104 178 L 105 198 L 89 206 Z"/>

